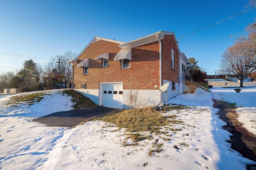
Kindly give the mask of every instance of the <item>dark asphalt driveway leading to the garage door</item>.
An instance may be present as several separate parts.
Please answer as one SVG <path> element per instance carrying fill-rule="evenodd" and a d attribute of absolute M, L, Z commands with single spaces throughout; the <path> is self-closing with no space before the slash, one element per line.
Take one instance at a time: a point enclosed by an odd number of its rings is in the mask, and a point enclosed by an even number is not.
<path fill-rule="evenodd" d="M 82 121 L 88 120 L 90 117 L 102 115 L 116 109 L 109 107 L 94 107 L 92 109 L 60 111 L 44 117 L 33 119 L 35 122 L 46 124 L 46 126 L 58 127 L 76 127 Z"/>

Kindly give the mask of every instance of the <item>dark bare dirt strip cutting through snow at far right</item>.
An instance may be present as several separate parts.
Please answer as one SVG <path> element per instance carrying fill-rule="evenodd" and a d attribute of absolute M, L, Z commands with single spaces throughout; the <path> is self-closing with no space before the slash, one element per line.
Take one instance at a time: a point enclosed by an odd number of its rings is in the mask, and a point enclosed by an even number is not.
<path fill-rule="evenodd" d="M 231 148 L 238 151 L 245 158 L 256 161 L 256 136 L 248 132 L 242 123 L 237 121 L 237 114 L 235 113 L 235 104 L 228 102 L 213 100 L 214 108 L 220 109 L 217 115 L 220 119 L 227 123 L 223 127 L 226 131 L 232 133 L 230 136 Z M 256 169 L 256 165 L 247 165 L 248 170 Z"/>

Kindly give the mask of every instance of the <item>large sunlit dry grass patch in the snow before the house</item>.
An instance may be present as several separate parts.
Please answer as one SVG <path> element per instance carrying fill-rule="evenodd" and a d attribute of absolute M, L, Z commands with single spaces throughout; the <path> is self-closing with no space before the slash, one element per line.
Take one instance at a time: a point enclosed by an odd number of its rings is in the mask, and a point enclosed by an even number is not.
<path fill-rule="evenodd" d="M 178 109 L 188 109 L 189 107 L 185 106 L 168 106 L 163 107 L 160 111 L 154 111 L 152 107 L 146 107 L 143 109 L 119 109 L 112 111 L 110 113 L 106 113 L 104 115 L 100 115 L 99 117 L 94 117 L 92 120 L 102 120 L 116 125 L 119 128 L 125 128 L 125 135 L 127 135 L 123 146 L 134 146 L 138 145 L 139 141 L 143 141 L 144 139 L 151 140 L 152 134 L 154 135 L 163 135 L 162 139 L 164 141 L 170 141 L 168 138 L 172 135 L 168 135 L 168 131 L 182 131 L 182 129 L 174 129 L 170 127 L 170 124 L 178 124 L 184 123 L 181 120 L 176 120 L 176 115 L 168 115 L 163 116 L 161 113 L 170 110 L 178 110 Z M 166 130 L 164 130 L 166 129 Z M 144 135 L 142 132 L 149 133 L 149 135 Z M 131 139 L 133 141 L 132 144 L 127 144 L 127 140 Z M 152 152 L 160 152 L 162 144 L 156 145 L 153 144 L 153 148 L 149 155 Z"/>

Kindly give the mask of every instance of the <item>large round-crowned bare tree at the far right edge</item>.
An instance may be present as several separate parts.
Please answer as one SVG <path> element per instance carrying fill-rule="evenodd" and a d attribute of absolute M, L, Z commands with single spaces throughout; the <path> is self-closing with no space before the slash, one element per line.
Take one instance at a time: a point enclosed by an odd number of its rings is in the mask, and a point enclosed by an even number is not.
<path fill-rule="evenodd" d="M 244 78 L 256 69 L 256 23 L 248 25 L 246 31 L 248 36 L 240 37 L 228 47 L 221 60 L 222 68 L 240 80 L 240 87 L 243 87 Z"/>

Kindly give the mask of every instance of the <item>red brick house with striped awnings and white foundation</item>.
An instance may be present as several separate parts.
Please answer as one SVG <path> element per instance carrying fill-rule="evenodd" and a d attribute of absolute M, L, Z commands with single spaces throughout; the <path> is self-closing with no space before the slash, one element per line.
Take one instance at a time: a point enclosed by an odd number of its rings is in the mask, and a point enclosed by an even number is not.
<path fill-rule="evenodd" d="M 174 32 L 159 31 L 127 43 L 94 37 L 68 62 L 72 89 L 106 107 L 128 108 L 131 90 L 140 107 L 164 104 L 165 94 L 155 85 L 169 82 L 168 100 L 184 92 L 181 71 L 189 61 L 183 54 Z"/>

